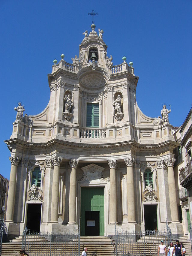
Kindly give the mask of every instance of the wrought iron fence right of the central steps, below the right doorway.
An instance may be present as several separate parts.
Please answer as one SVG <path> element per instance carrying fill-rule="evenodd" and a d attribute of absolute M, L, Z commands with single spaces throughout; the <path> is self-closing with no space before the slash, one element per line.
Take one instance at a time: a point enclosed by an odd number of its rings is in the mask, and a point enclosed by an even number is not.
<path fill-rule="evenodd" d="M 115 249 L 116 256 L 154 256 L 157 255 L 158 245 L 164 240 L 168 248 L 172 241 L 171 229 L 166 221 L 164 230 L 147 231 L 123 231 L 115 230 Z"/>

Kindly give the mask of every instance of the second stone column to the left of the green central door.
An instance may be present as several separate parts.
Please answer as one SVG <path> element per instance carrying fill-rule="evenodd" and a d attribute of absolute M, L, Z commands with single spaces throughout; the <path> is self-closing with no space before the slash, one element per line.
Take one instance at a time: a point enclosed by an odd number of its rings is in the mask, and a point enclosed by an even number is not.
<path fill-rule="evenodd" d="M 53 163 L 53 182 L 51 197 L 51 222 L 58 223 L 58 203 L 59 203 L 59 166 L 63 158 L 52 158 Z"/>

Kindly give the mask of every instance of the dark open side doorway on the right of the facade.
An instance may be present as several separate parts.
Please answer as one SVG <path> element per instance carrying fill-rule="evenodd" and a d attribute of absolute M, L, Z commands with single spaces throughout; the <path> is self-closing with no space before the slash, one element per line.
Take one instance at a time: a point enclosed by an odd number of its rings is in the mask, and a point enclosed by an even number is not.
<path fill-rule="evenodd" d="M 157 230 L 157 204 L 144 205 L 145 230 Z"/>

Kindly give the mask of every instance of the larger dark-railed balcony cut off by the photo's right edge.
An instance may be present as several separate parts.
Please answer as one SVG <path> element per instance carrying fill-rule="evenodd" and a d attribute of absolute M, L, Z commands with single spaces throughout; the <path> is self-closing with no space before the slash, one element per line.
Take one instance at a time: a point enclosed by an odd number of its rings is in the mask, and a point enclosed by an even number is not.
<path fill-rule="evenodd" d="M 192 161 L 179 173 L 179 182 L 184 188 L 192 187 Z"/>

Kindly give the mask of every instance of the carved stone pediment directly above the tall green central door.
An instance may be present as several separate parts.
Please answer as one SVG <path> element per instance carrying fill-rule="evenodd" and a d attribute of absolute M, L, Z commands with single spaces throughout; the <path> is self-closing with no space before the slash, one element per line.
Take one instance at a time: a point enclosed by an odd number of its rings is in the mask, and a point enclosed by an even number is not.
<path fill-rule="evenodd" d="M 105 168 L 98 166 L 97 164 L 89 164 L 82 167 L 81 170 L 83 171 L 83 175 L 81 181 L 92 182 L 103 180 L 101 173 L 104 171 L 104 169 Z"/>

